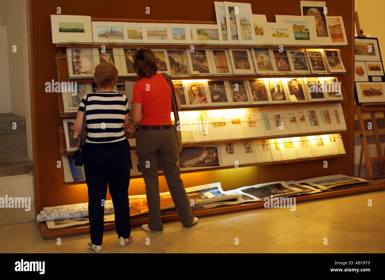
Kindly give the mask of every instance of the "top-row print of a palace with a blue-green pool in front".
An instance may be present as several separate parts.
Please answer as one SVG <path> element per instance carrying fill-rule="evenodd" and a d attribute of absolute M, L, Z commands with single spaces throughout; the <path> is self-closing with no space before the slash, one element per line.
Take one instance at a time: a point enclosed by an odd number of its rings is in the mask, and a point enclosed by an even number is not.
<path fill-rule="evenodd" d="M 275 15 L 276 22 L 290 23 L 293 27 L 295 43 L 298 45 L 314 45 L 318 43 L 314 16 L 308 15 Z"/>

